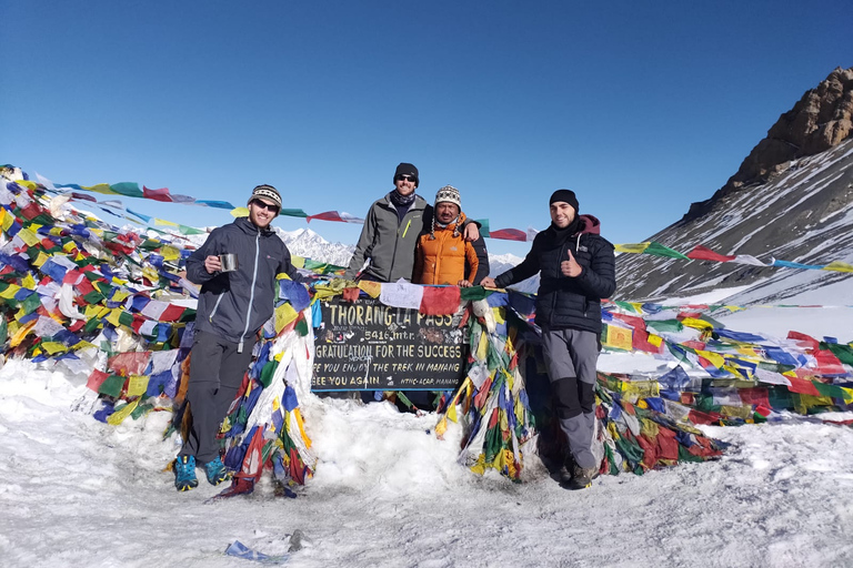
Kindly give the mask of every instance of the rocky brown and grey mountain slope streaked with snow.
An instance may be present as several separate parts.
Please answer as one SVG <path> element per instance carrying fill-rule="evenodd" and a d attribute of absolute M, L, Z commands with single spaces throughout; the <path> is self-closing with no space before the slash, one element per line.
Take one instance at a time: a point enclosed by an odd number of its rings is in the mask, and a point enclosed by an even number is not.
<path fill-rule="evenodd" d="M 853 260 L 853 69 L 836 69 L 807 91 L 714 195 L 652 235 L 680 252 L 703 245 L 824 265 Z M 688 296 L 750 286 L 751 302 L 780 302 L 804 290 L 851 281 L 851 273 L 622 254 L 621 300 Z M 790 285 L 784 285 L 790 281 Z M 853 282 L 850 282 L 853 286 Z M 761 291 L 766 293 L 762 294 Z M 733 291 L 734 292 L 734 291 Z"/>

